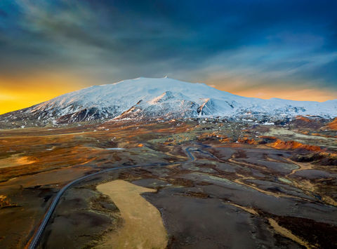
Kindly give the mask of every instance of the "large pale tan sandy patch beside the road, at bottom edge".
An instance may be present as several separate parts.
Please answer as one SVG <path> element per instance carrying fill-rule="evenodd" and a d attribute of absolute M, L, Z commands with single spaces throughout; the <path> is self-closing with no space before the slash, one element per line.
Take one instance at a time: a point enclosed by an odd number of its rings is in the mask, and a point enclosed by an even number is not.
<path fill-rule="evenodd" d="M 110 232 L 96 248 L 166 248 L 167 234 L 159 210 L 140 194 L 155 192 L 124 180 L 114 180 L 97 187 L 110 196 L 121 212 L 124 225 Z"/>

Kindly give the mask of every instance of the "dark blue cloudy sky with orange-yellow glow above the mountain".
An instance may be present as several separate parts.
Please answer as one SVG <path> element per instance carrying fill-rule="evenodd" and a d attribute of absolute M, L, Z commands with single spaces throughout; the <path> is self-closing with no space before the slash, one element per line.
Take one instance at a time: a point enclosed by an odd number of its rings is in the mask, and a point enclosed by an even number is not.
<path fill-rule="evenodd" d="M 337 99 L 336 10 L 336 0 L 1 0 L 0 114 L 139 76 Z"/>

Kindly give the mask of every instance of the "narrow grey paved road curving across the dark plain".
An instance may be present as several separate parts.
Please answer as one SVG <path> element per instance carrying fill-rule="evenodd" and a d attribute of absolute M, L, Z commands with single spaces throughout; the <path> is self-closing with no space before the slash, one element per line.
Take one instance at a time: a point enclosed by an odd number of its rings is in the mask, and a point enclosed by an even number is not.
<path fill-rule="evenodd" d="M 190 147 L 185 149 L 185 152 L 187 154 L 187 156 L 190 156 L 190 161 L 194 161 L 194 156 L 192 156 L 191 152 L 190 152 Z M 186 161 L 188 162 L 188 161 Z M 183 163 L 186 163 L 183 162 Z M 72 185 L 77 184 L 83 180 L 86 180 L 90 177 L 93 177 L 94 175 L 98 175 L 98 174 L 102 174 L 105 172 L 109 172 L 112 170 L 121 170 L 121 169 L 126 169 L 126 168 L 140 168 L 140 167 L 149 167 L 149 166 L 169 166 L 171 164 L 174 163 L 153 163 L 153 164 L 145 164 L 145 165 L 133 165 L 133 166 L 124 166 L 124 167 L 117 167 L 117 168 L 108 168 L 107 170 L 101 170 L 98 171 L 96 173 L 90 174 L 90 175 L 84 175 L 83 177 L 79 177 L 76 180 L 68 183 L 67 185 L 65 185 L 65 187 L 62 187 L 62 189 L 60 189 L 60 191 L 58 191 L 58 194 L 53 198 L 53 202 L 51 203 L 51 206 L 49 206 L 46 214 L 44 215 L 44 219 L 42 220 L 41 224 L 39 225 L 39 228 L 37 229 L 37 231 L 35 232 L 33 238 L 31 241 L 29 241 L 29 245 L 27 246 L 27 248 L 29 249 L 34 249 L 37 247 L 39 240 L 41 238 L 41 235 L 44 232 L 44 229 L 46 229 L 46 225 L 48 223 L 48 221 L 51 219 L 51 215 L 53 214 L 56 205 L 58 205 L 58 202 L 60 201 L 60 198 L 62 196 L 63 193 L 65 193 L 65 191 L 67 189 L 69 189 Z"/>

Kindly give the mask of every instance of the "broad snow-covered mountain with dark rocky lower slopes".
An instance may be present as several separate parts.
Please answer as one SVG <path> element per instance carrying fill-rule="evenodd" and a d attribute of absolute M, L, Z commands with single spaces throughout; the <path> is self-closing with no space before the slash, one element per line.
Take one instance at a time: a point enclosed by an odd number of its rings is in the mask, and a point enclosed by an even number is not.
<path fill-rule="evenodd" d="M 138 78 L 91 86 L 8 112 L 0 116 L 0 127 L 24 128 L 107 119 L 199 117 L 274 123 L 305 115 L 332 119 L 337 116 L 337 100 L 262 100 L 233 95 L 204 83 L 187 83 L 166 77 Z"/>

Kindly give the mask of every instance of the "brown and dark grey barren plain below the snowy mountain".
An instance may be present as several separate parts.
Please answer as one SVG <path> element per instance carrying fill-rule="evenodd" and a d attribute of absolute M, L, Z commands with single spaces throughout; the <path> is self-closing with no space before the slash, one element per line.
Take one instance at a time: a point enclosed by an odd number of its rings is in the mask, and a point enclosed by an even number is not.
<path fill-rule="evenodd" d="M 0 248 L 25 248 L 67 183 L 136 165 L 67 189 L 38 247 L 336 248 L 335 125 L 298 117 L 0 130 Z"/>

